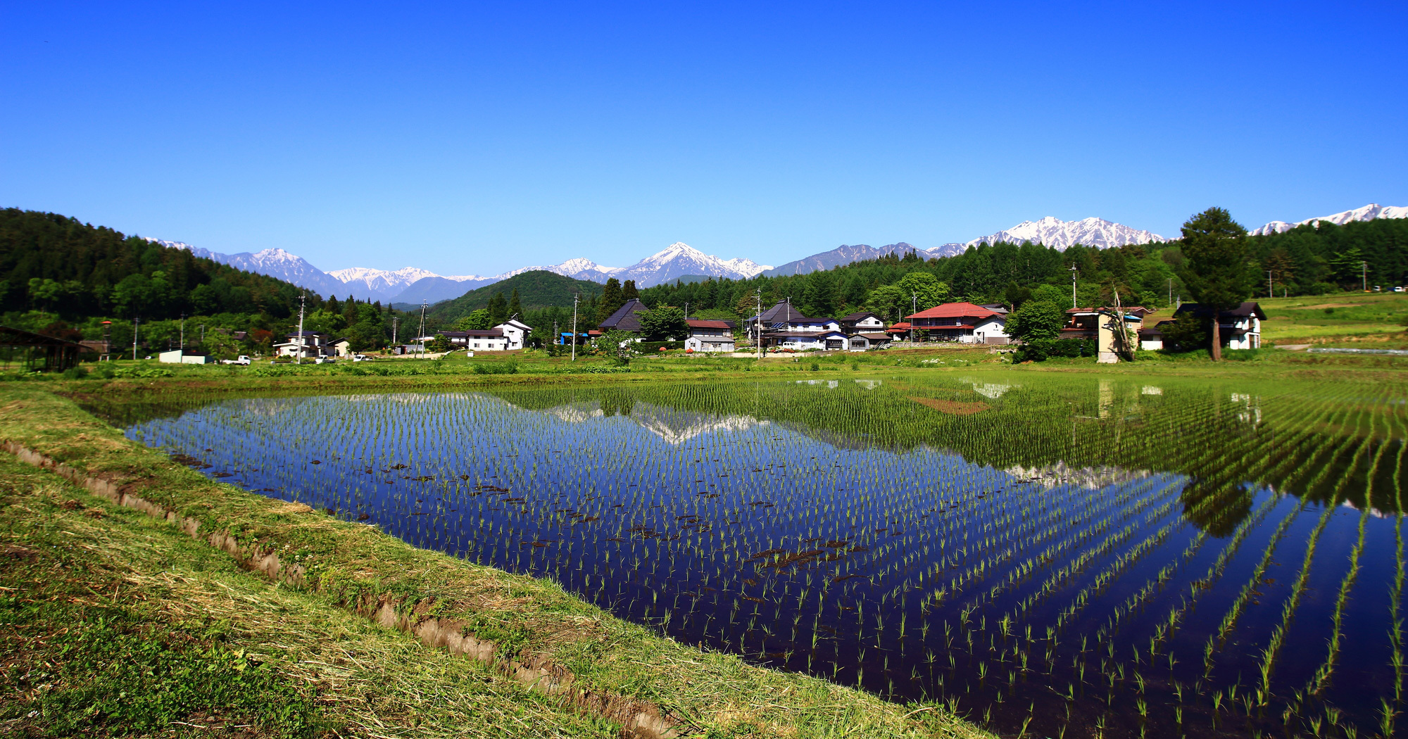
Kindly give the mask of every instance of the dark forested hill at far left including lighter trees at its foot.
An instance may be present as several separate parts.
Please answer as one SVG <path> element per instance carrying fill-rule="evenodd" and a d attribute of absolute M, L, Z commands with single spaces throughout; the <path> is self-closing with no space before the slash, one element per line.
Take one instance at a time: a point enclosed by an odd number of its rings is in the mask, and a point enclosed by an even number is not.
<path fill-rule="evenodd" d="M 184 346 L 232 356 L 268 350 L 298 321 L 383 346 L 393 320 L 377 303 L 339 301 L 54 213 L 0 210 L 0 322 L 72 341 L 103 339 L 138 353 Z M 104 321 L 111 321 L 104 325 Z M 183 341 L 184 339 L 184 341 Z"/>

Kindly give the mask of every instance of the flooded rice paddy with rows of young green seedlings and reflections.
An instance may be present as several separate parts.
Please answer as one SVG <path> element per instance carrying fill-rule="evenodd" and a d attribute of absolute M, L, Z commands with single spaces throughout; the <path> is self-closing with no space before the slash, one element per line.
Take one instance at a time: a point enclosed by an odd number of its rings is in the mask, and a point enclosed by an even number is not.
<path fill-rule="evenodd" d="M 973 372 L 120 400 L 211 477 L 1010 736 L 1394 736 L 1408 393 Z"/>

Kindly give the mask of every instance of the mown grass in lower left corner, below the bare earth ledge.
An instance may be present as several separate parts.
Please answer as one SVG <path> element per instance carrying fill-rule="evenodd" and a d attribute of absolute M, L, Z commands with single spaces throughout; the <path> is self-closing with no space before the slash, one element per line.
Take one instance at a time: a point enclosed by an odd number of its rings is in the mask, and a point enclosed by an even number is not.
<path fill-rule="evenodd" d="M 0 455 L 0 733 L 614 736 Z"/>

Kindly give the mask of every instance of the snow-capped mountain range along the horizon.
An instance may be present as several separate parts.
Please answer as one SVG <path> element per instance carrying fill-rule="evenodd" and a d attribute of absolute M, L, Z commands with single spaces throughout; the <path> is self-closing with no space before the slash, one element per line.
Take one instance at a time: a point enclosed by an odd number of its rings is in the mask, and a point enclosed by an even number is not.
<path fill-rule="evenodd" d="M 1252 231 L 1252 234 L 1276 234 L 1315 221 L 1346 224 L 1350 221 L 1371 221 L 1374 218 L 1408 218 L 1408 207 L 1384 207 L 1370 203 L 1362 208 L 1347 210 L 1333 215 L 1307 218 L 1305 221 L 1300 221 L 1297 224 L 1271 221 Z M 1046 246 L 1064 251 L 1076 244 L 1108 249 L 1124 246 L 1126 244 L 1152 244 L 1167 239 L 1159 234 L 1105 221 L 1104 218 L 1062 221 L 1048 215 L 1039 221 L 1022 221 L 1012 228 L 988 234 L 987 236 L 980 236 L 964 244 L 943 244 L 929 249 L 922 249 L 903 241 L 888 244 L 886 246 L 843 244 L 835 249 L 814 253 L 794 262 L 787 262 L 786 265 L 777 267 L 759 265 L 758 262 L 746 258 L 719 259 L 694 249 L 687 244 L 676 242 L 628 267 L 608 267 L 597 265 L 590 259 L 577 258 L 559 265 L 520 267 L 493 277 L 479 274 L 444 276 L 420 267 L 401 267 L 396 270 L 348 267 L 322 272 L 310 265 L 301 256 L 283 249 L 263 249 L 260 252 L 227 255 L 191 246 L 179 241 L 158 241 L 162 245 L 177 249 L 190 249 L 190 252 L 196 256 L 210 258 L 215 262 L 222 262 L 234 267 L 279 277 L 314 290 L 322 296 L 344 297 L 351 294 L 362 300 L 418 304 L 421 301 L 438 303 L 441 300 L 459 297 L 470 290 L 531 270 L 546 270 L 572 277 L 574 280 L 590 280 L 594 283 L 604 283 L 610 277 L 617 277 L 622 282 L 635 280 L 636 287 L 650 287 L 681 277 L 698 276 L 749 279 L 758 274 L 807 274 L 810 272 L 832 269 L 841 265 L 849 265 L 863 259 L 876 259 L 891 253 L 903 255 L 914 252 L 922 259 L 934 259 L 959 255 L 969 246 L 977 246 L 984 242 L 995 244 L 1007 241 L 1021 244 L 1024 241 L 1031 241 L 1032 244 L 1043 244 Z"/>

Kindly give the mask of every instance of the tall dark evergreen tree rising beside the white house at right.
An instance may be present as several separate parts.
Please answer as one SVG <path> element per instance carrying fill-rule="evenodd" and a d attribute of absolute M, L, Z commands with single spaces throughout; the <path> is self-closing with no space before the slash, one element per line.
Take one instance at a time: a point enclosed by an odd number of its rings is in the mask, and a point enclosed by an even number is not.
<path fill-rule="evenodd" d="M 1212 360 L 1222 359 L 1222 311 L 1252 294 L 1246 228 L 1225 208 L 1208 208 L 1183 224 L 1183 269 L 1178 277 L 1212 315 Z"/>

